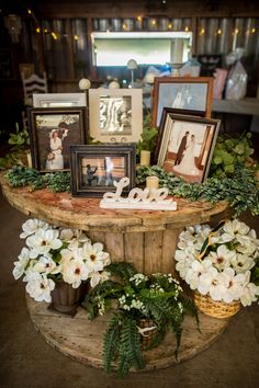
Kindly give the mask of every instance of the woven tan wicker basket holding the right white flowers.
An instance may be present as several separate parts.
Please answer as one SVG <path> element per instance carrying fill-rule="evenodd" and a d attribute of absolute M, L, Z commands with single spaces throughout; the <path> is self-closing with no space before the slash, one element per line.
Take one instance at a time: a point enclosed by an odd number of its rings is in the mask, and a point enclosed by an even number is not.
<path fill-rule="evenodd" d="M 240 310 L 241 304 L 235 300 L 230 304 L 213 300 L 209 295 L 194 293 L 194 304 L 200 311 L 215 318 L 229 318 Z"/>

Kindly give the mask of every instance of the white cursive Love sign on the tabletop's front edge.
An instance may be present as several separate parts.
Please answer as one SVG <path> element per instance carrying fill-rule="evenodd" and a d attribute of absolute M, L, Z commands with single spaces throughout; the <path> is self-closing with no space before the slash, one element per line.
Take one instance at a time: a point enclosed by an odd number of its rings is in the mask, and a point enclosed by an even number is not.
<path fill-rule="evenodd" d="M 119 182 L 113 182 L 115 193 L 105 193 L 100 201 L 100 207 L 114 209 L 142 209 L 142 210 L 177 210 L 177 203 L 167 198 L 168 189 L 138 189 L 131 190 L 127 197 L 122 197 L 123 189 L 130 184 L 130 179 L 124 176 Z"/>

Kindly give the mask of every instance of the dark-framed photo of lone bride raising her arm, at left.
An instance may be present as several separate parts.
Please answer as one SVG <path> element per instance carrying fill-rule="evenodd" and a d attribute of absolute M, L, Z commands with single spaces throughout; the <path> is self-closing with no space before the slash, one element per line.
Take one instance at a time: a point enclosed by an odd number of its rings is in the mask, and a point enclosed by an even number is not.
<path fill-rule="evenodd" d="M 86 144 L 83 107 L 29 109 L 32 163 L 42 172 L 70 168 L 70 145 Z"/>

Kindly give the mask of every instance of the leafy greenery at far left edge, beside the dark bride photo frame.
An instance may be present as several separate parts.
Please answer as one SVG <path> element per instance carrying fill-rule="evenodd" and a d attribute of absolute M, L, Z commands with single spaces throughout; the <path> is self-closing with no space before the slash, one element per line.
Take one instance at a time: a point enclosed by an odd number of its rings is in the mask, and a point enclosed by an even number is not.
<path fill-rule="evenodd" d="M 24 151 L 30 145 L 29 132 L 26 128 L 20 130 L 18 124 L 15 129 L 16 132 L 10 134 L 8 140 L 8 144 L 12 146 L 11 151 L 4 158 L 0 158 L 0 170 L 9 169 L 15 164 L 23 166 Z"/>

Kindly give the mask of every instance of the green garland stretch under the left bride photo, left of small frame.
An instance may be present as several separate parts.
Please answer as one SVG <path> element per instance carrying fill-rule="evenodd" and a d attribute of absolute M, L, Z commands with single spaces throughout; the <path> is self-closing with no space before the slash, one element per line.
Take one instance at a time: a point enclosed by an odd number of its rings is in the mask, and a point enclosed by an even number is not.
<path fill-rule="evenodd" d="M 10 186 L 30 186 L 31 191 L 48 187 L 53 192 L 70 191 L 70 173 L 55 172 L 42 174 L 35 169 L 24 166 L 14 166 L 5 174 Z"/>

